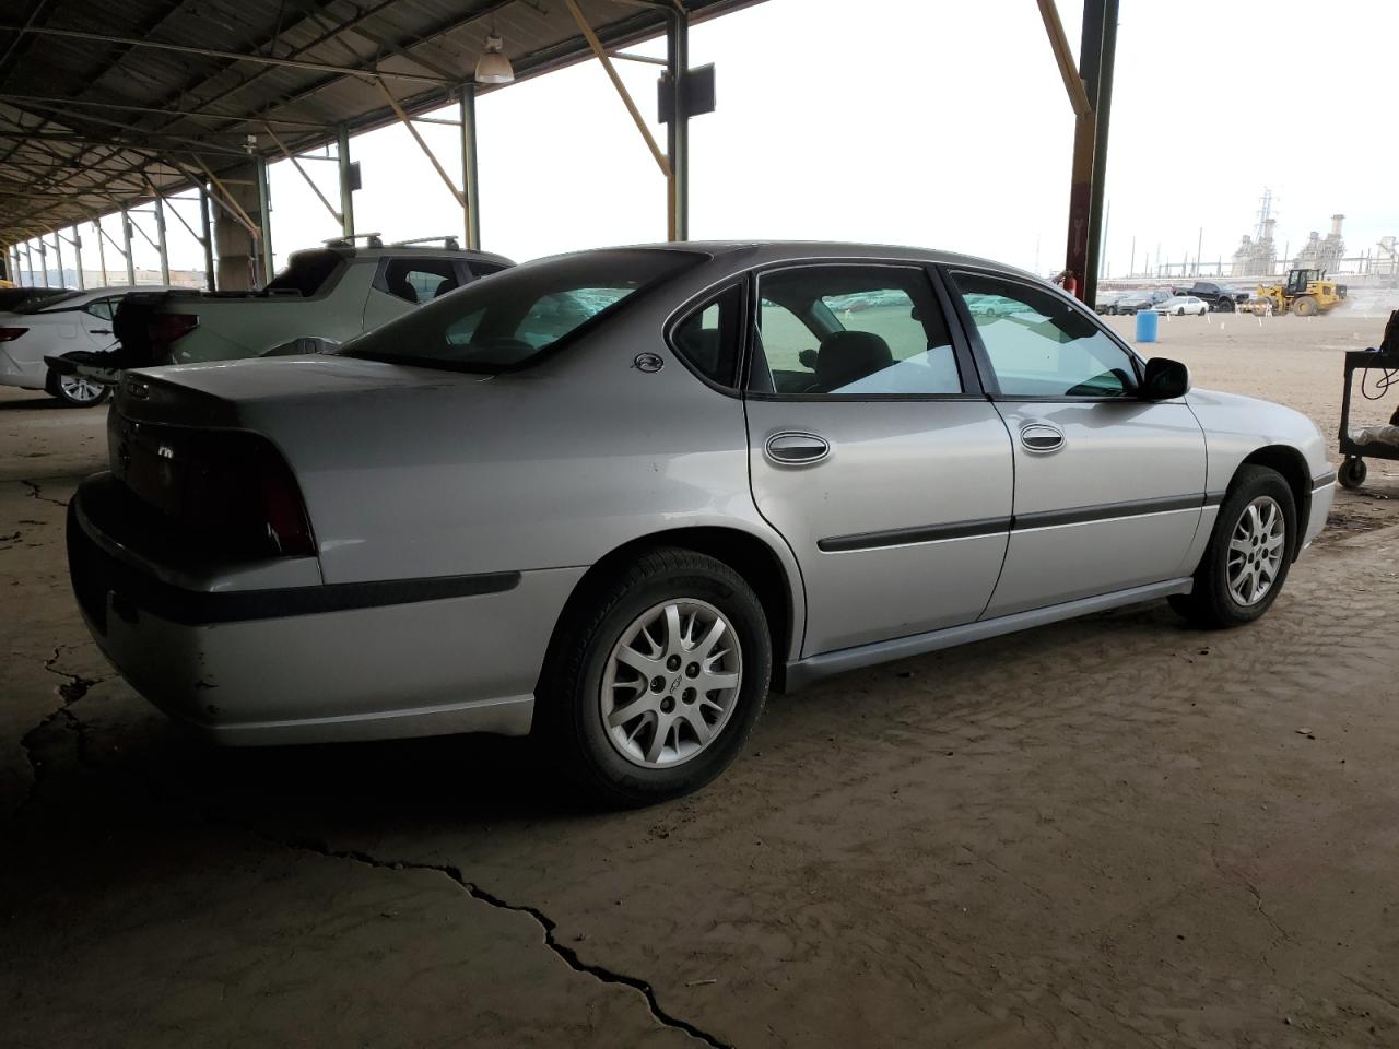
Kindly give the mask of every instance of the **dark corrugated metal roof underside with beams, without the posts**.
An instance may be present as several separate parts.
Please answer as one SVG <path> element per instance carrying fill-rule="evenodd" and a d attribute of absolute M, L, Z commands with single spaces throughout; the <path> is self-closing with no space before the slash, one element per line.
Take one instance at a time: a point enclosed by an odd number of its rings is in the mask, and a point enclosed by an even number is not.
<path fill-rule="evenodd" d="M 758 0 L 673 0 L 701 20 Z M 665 28 L 662 0 L 578 0 L 603 43 Z M 0 243 L 393 120 L 470 81 L 485 35 L 518 80 L 592 55 L 561 0 L 22 0 L 0 25 Z M 136 43 L 143 42 L 143 43 Z M 159 46 L 157 46 L 159 45 Z M 276 63 L 276 64 L 273 64 Z M 488 88 L 481 87 L 480 91 Z M 249 137 L 252 136 L 252 137 Z M 182 171 L 183 169 L 183 171 Z"/>

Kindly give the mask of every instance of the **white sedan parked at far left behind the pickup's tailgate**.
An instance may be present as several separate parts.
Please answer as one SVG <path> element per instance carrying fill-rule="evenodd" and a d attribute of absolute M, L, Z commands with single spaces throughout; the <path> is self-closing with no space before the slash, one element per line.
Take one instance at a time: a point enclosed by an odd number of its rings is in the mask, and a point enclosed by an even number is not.
<path fill-rule="evenodd" d="M 116 345 L 112 316 L 118 304 L 133 291 L 130 287 L 60 290 L 32 297 L 8 313 L 0 313 L 0 383 L 48 390 L 74 408 L 101 404 L 111 390 L 73 373 L 63 364 L 73 355 L 104 352 Z M 55 366 L 56 362 L 63 364 Z"/>

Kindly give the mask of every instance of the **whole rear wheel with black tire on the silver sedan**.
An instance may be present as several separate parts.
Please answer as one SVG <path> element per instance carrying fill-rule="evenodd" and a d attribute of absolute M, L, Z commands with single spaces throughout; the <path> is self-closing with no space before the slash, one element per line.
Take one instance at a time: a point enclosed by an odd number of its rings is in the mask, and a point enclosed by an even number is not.
<path fill-rule="evenodd" d="M 565 613 L 539 729 L 564 771 L 611 806 L 680 797 L 743 750 L 772 677 L 762 604 L 729 565 L 645 554 Z"/>

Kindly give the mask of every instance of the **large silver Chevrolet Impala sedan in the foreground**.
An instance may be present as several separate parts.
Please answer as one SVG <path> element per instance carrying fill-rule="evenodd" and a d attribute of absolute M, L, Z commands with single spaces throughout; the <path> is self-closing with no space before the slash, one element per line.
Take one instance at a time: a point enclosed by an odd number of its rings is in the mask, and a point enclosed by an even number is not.
<path fill-rule="evenodd" d="M 818 243 L 567 255 L 129 372 L 109 446 L 73 586 L 168 713 L 534 733 L 628 804 L 718 775 L 769 687 L 1160 597 L 1251 622 L 1335 488 L 1309 420 L 1030 274 Z"/>

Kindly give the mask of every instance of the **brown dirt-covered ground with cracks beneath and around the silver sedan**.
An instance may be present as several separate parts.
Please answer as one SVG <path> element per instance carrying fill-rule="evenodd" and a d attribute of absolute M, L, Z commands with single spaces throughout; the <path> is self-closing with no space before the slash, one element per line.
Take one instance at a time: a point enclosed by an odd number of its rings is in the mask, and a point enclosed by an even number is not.
<path fill-rule="evenodd" d="M 1365 313 L 1157 352 L 1330 436 Z M 522 741 L 180 736 L 67 589 L 102 415 L 0 392 L 6 1046 L 1399 1045 L 1399 464 L 1252 628 L 1150 604 L 848 674 L 614 814 Z"/>

